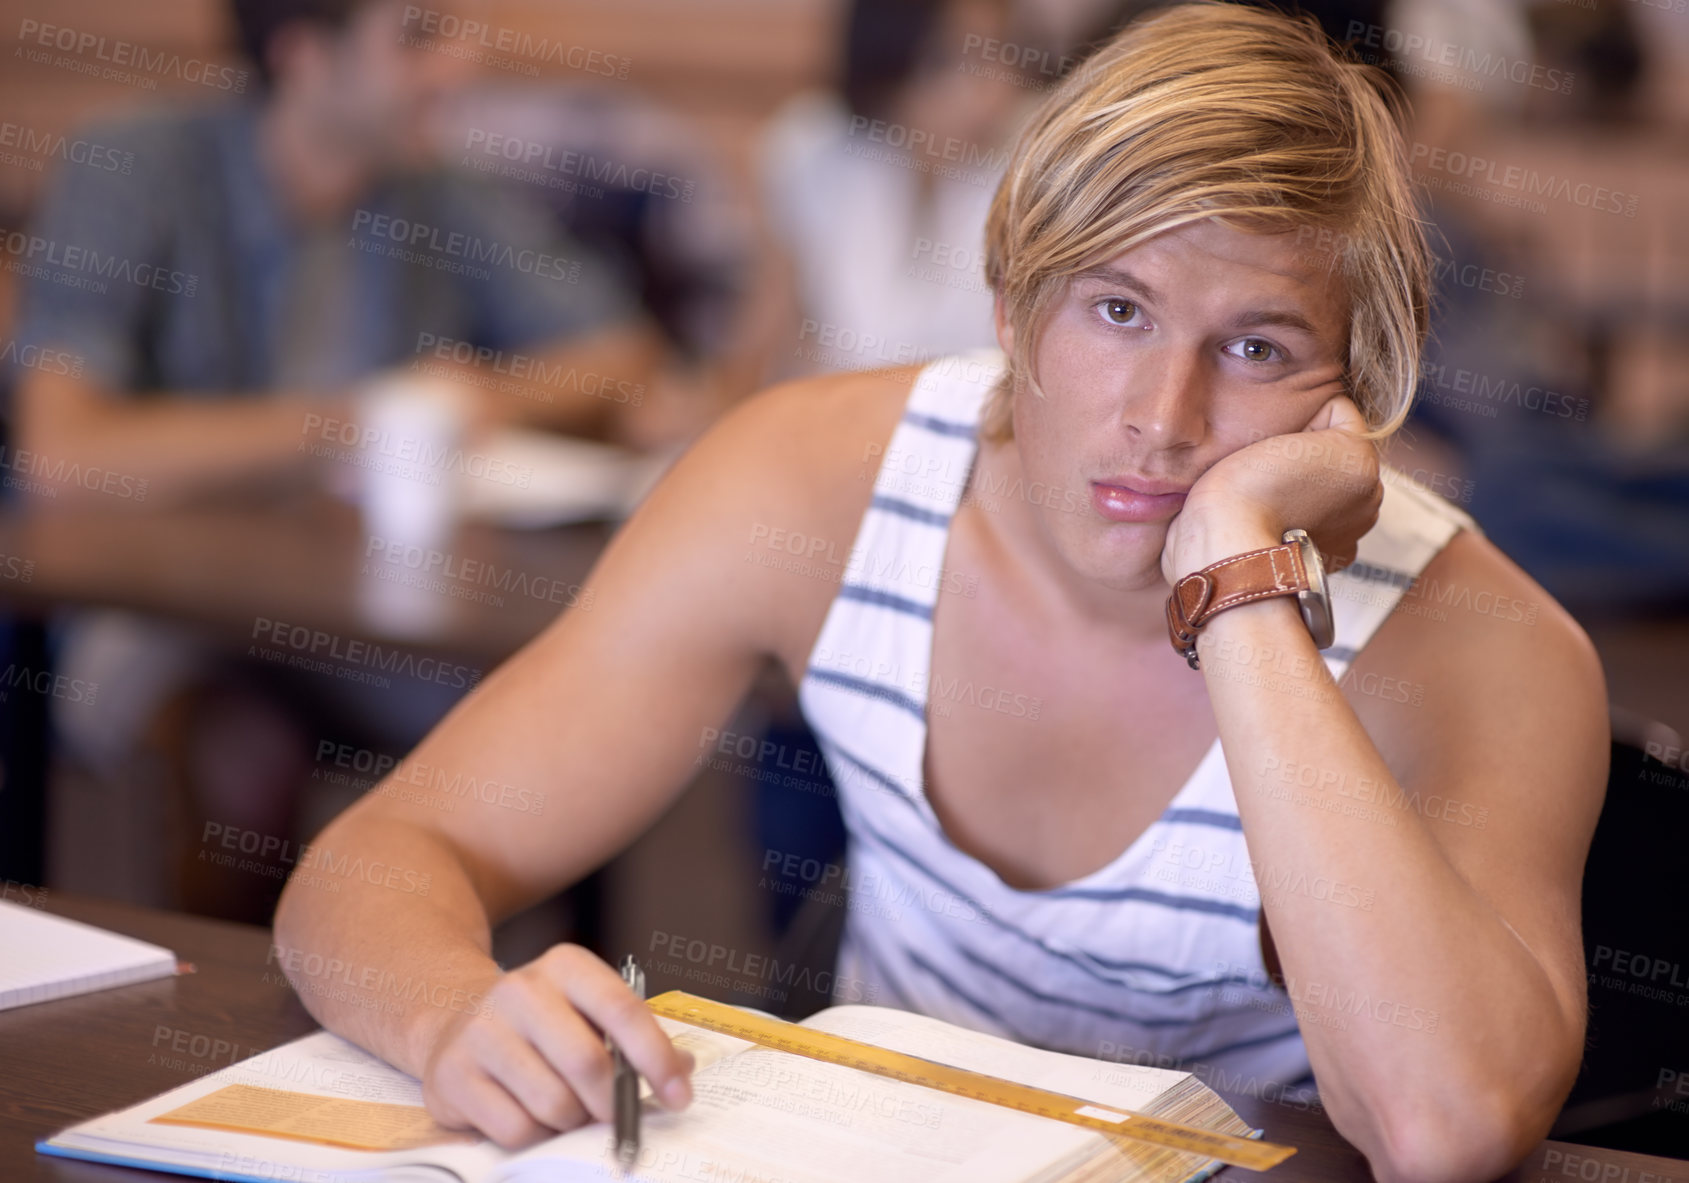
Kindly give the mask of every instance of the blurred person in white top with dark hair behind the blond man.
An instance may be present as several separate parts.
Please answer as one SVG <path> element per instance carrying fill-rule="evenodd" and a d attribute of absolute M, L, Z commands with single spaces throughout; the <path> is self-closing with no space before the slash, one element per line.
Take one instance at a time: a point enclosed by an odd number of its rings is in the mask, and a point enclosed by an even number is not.
<path fill-rule="evenodd" d="M 1010 17 L 1007 0 L 855 0 L 838 91 L 770 123 L 763 204 L 787 260 L 770 377 L 991 345 L 985 211 L 1030 93 L 1003 61 Z"/>

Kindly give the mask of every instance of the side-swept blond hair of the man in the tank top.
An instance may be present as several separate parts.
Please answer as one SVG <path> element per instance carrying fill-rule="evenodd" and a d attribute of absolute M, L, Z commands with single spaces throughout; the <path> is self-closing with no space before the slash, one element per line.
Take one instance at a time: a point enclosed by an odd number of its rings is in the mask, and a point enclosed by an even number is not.
<path fill-rule="evenodd" d="M 1371 438 L 1393 433 L 1431 319 L 1402 117 L 1312 17 L 1201 0 L 1115 35 L 1044 100 L 991 199 L 985 274 L 1015 348 L 981 434 L 1013 434 L 1015 389 L 1042 397 L 1030 360 L 1069 275 L 1204 218 L 1295 230 L 1343 270 L 1350 394 Z"/>

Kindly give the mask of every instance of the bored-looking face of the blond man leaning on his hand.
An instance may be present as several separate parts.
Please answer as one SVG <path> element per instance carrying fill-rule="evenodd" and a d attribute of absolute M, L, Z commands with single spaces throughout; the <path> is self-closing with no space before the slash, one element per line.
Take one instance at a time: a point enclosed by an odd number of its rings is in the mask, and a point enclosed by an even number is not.
<path fill-rule="evenodd" d="M 1167 524 L 1223 456 L 1301 431 L 1344 392 L 1348 304 L 1297 235 L 1170 230 L 1074 275 L 1013 402 L 1039 529 L 1081 576 L 1162 583 Z M 1005 350 L 1012 331 L 998 323 Z"/>

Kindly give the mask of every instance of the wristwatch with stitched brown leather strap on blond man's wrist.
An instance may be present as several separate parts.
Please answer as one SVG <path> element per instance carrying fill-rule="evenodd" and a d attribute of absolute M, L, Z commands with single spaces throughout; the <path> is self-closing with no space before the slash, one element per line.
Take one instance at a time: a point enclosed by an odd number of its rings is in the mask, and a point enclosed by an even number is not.
<path fill-rule="evenodd" d="M 1233 554 L 1174 583 L 1172 595 L 1167 597 L 1167 635 L 1172 647 L 1184 654 L 1191 669 L 1201 669 L 1196 639 L 1203 625 L 1216 612 L 1275 595 L 1294 595 L 1314 647 L 1331 647 L 1338 639 L 1338 627 L 1331 617 L 1326 563 L 1319 558 L 1314 539 L 1301 529 L 1285 531 L 1279 546 Z"/>

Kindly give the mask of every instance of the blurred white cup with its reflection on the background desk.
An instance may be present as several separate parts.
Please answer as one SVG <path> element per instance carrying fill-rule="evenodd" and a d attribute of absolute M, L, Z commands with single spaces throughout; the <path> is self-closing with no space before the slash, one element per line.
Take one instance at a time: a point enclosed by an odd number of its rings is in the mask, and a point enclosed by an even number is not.
<path fill-rule="evenodd" d="M 427 556 L 446 551 L 458 527 L 468 402 L 451 382 L 400 372 L 367 384 L 353 406 L 365 441 L 360 610 L 382 632 L 426 635 L 451 615 Z"/>

